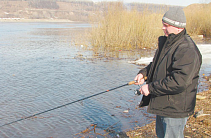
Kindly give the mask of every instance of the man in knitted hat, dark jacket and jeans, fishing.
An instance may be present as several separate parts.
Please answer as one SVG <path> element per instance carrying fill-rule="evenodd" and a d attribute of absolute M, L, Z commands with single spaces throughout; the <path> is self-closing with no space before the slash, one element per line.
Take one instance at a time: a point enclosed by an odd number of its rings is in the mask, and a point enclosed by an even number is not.
<path fill-rule="evenodd" d="M 170 8 L 162 18 L 165 36 L 158 39 L 153 61 L 135 77 L 143 94 L 140 107 L 156 114 L 159 138 L 184 138 L 188 116 L 194 113 L 201 54 L 186 33 L 186 17 L 181 8 Z"/>

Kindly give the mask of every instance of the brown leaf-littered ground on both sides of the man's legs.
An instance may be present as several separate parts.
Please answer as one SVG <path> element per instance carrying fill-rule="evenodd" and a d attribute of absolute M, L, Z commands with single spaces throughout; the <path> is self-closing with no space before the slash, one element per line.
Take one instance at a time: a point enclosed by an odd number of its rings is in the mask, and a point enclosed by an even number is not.
<path fill-rule="evenodd" d="M 208 90 L 197 94 L 195 113 L 185 126 L 185 138 L 211 137 L 211 75 L 204 75 Z M 130 138 L 155 138 L 155 121 L 143 127 L 128 131 Z"/>

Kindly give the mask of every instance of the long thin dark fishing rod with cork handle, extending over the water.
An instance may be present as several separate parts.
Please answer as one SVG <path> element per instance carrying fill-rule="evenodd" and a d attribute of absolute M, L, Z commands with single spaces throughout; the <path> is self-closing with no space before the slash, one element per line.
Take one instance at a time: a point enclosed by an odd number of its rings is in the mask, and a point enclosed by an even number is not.
<path fill-rule="evenodd" d="M 82 98 L 82 99 L 79 99 L 79 100 L 76 100 L 76 101 L 73 101 L 73 102 L 70 102 L 70 103 L 67 103 L 67 104 L 63 104 L 63 105 L 60 105 L 60 106 L 57 106 L 57 107 L 54 107 L 54 108 L 45 110 L 45 111 L 43 111 L 43 112 L 36 113 L 36 114 L 30 115 L 30 116 L 28 116 L 28 117 L 24 117 L 24 118 L 21 118 L 21 119 L 12 121 L 12 122 L 10 122 L 10 123 L 6 123 L 6 124 L 4 124 L 4 125 L 1 125 L 0 127 L 7 126 L 7 125 L 10 125 L 10 124 L 13 124 L 13 123 L 16 123 L 16 122 L 20 122 L 20 121 L 22 121 L 22 120 L 25 120 L 25 119 L 28 119 L 28 118 L 32 118 L 32 117 L 34 117 L 34 116 L 37 116 L 37 115 L 40 115 L 40 114 L 43 114 L 43 113 L 46 113 L 46 112 L 49 112 L 49 111 L 52 111 L 52 110 L 55 110 L 55 109 L 58 109 L 58 108 L 67 106 L 67 105 L 70 105 L 70 104 L 73 104 L 73 103 L 77 103 L 77 102 L 80 102 L 80 101 L 89 99 L 89 98 L 91 98 L 91 97 L 95 97 L 95 96 L 97 96 L 97 95 L 100 95 L 100 94 L 103 94 L 103 93 L 106 93 L 106 92 L 109 92 L 109 91 L 112 91 L 112 90 L 115 90 L 115 89 L 118 89 L 118 88 L 121 88 L 121 87 L 124 87 L 124 86 L 127 86 L 127 85 L 132 85 L 132 84 L 135 84 L 135 83 L 136 83 L 136 81 L 131 81 L 131 82 L 128 82 L 128 83 L 126 83 L 126 84 L 124 84 L 124 85 L 121 85 L 121 86 L 118 86 L 118 87 L 115 87 L 115 88 L 112 88 L 112 89 L 109 89 L 109 90 L 106 90 L 106 91 L 103 91 L 103 92 L 100 92 L 100 93 L 97 93 L 97 94 L 93 94 L 93 95 L 91 95 L 91 96 L 88 96 L 88 97 L 85 97 L 85 98 Z"/>

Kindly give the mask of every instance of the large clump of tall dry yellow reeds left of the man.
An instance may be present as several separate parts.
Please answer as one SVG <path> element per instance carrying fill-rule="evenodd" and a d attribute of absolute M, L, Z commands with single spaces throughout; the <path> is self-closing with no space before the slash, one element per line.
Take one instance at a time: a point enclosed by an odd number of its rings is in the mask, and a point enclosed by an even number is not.
<path fill-rule="evenodd" d="M 93 25 L 91 45 L 103 51 L 155 48 L 157 37 L 162 35 L 162 14 L 147 8 L 139 12 L 127 10 L 124 5 L 113 3 L 108 6 L 103 18 Z"/>

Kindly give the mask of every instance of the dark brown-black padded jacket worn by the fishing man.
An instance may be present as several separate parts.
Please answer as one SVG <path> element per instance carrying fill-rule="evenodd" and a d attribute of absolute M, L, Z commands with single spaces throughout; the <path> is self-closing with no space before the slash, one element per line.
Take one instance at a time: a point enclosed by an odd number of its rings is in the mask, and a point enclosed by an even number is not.
<path fill-rule="evenodd" d="M 150 91 L 140 106 L 148 105 L 149 113 L 172 118 L 193 114 L 201 63 L 201 53 L 185 29 L 159 37 L 153 61 L 139 71 L 147 76 Z"/>

